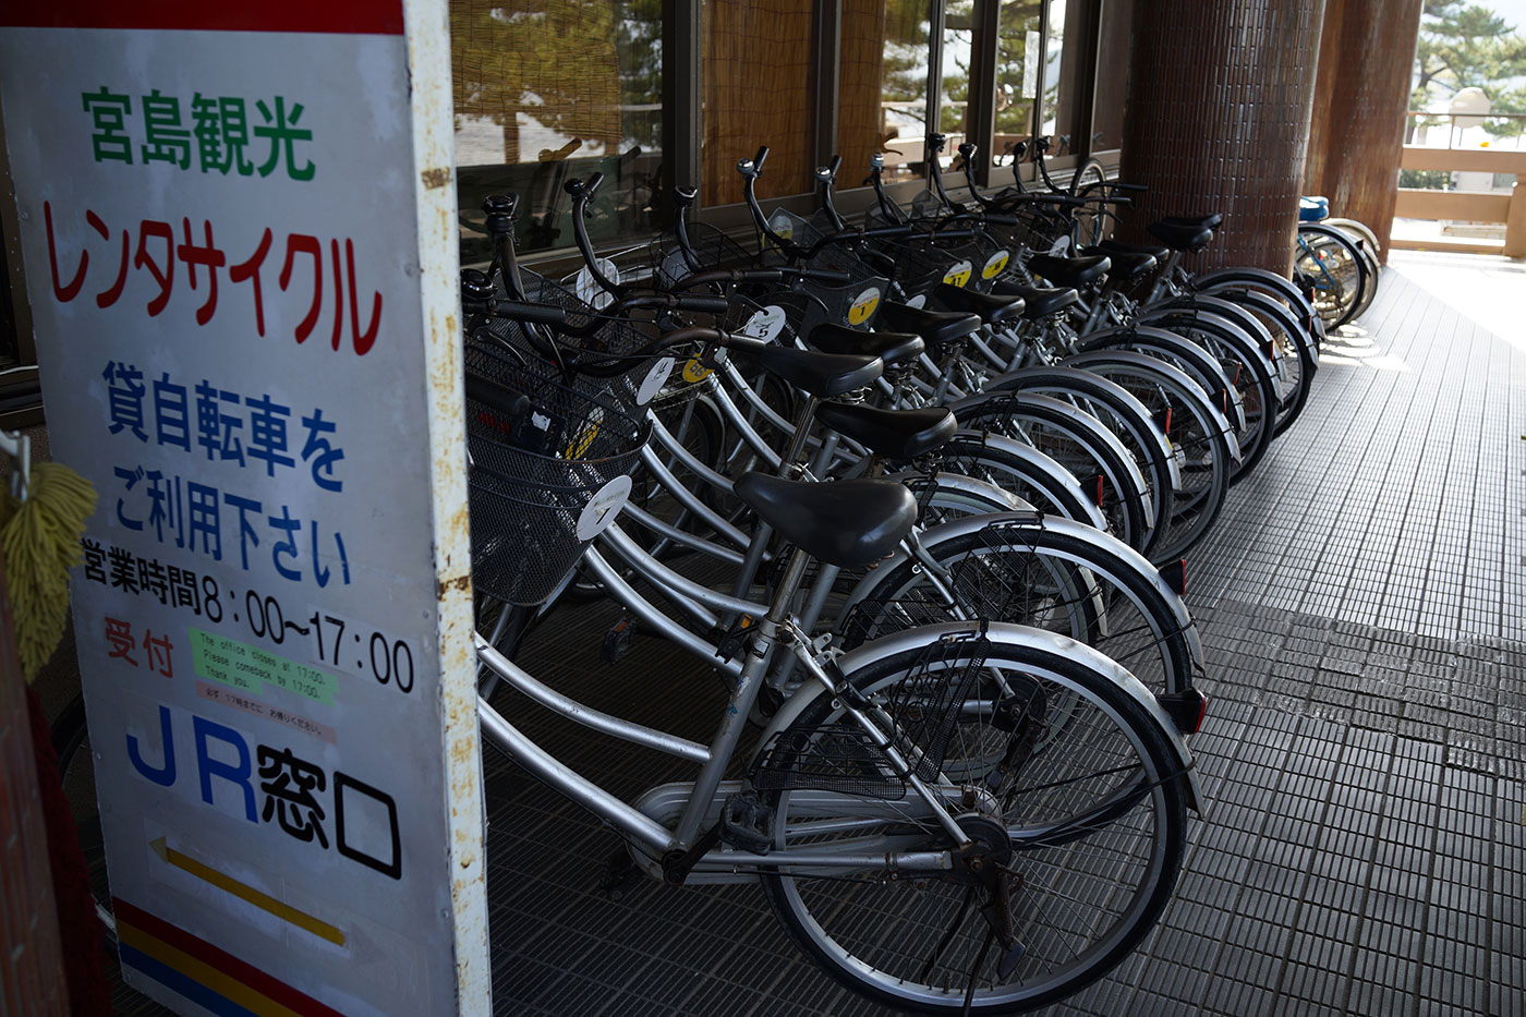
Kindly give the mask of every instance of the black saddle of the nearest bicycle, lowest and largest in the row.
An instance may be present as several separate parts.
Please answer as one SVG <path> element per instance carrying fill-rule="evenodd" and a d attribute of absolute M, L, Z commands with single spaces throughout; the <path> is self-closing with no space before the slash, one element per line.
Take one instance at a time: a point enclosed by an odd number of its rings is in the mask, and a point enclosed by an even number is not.
<path fill-rule="evenodd" d="M 917 499 L 891 479 L 792 481 L 743 473 L 734 484 L 758 519 L 812 557 L 861 568 L 896 550 L 917 521 Z"/>

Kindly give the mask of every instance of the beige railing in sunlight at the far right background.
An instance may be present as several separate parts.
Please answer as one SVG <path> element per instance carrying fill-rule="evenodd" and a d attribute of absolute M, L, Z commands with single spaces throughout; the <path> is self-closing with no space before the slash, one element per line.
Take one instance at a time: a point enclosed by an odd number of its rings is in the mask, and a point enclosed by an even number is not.
<path fill-rule="evenodd" d="M 1412 111 L 1412 121 L 1428 119 L 1431 125 L 1447 125 L 1447 147 L 1405 144 L 1399 157 L 1401 170 L 1430 170 L 1442 173 L 1489 173 L 1509 174 L 1515 185 L 1509 191 L 1441 191 L 1427 188 L 1399 188 L 1395 203 L 1395 218 L 1453 220 L 1465 223 L 1502 223 L 1505 243 L 1476 243 L 1462 240 L 1415 240 L 1395 237 L 1393 247 L 1419 250 L 1470 250 L 1503 253 L 1509 258 L 1526 258 L 1526 148 L 1521 137 L 1500 139 L 1511 147 L 1457 148 L 1454 142 L 1477 121 L 1526 121 L 1526 115 L 1492 113 L 1479 116 L 1447 116 Z M 1405 140 L 1422 130 L 1422 124 L 1405 125 Z"/>

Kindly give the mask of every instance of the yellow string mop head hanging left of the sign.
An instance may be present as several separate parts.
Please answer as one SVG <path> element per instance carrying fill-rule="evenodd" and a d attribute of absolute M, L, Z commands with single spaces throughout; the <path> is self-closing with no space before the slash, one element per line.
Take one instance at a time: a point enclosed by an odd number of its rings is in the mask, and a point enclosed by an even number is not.
<path fill-rule="evenodd" d="M 21 673 L 37 676 L 69 625 L 69 570 L 95 512 L 95 487 L 61 463 L 35 463 L 26 501 L 6 495 L 0 516 Z"/>

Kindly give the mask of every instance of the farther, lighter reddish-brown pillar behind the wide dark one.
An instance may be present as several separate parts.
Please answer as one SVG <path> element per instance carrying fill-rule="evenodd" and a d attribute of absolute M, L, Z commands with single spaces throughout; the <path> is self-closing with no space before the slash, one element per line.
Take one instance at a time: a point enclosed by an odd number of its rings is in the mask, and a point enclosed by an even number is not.
<path fill-rule="evenodd" d="M 1305 192 L 1366 223 L 1389 258 L 1421 0 L 1326 0 Z"/>

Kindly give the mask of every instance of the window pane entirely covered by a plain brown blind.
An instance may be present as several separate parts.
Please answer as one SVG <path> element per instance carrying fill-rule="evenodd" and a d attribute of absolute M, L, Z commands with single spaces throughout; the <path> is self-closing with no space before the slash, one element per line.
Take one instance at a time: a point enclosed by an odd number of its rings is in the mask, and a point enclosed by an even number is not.
<path fill-rule="evenodd" d="M 815 156 L 812 0 L 705 0 L 700 183 L 705 205 L 742 200 L 737 160 L 769 157 L 758 197 L 810 189 Z"/>

